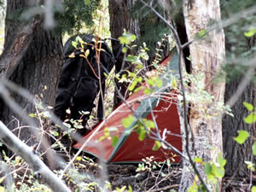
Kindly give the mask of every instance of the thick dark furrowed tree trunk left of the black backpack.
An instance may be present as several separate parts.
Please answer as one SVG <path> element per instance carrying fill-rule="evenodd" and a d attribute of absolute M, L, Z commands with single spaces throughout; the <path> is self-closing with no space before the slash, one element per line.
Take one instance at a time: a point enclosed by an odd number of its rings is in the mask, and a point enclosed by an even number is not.
<path fill-rule="evenodd" d="M 9 49 L 9 44 L 12 44 L 15 34 L 19 33 L 17 30 L 20 28 L 17 28 L 17 26 L 26 25 L 20 20 L 20 15 L 16 14 L 22 8 L 30 6 L 31 4 L 28 4 L 28 2 L 31 1 L 8 1 L 4 49 Z M 57 79 L 61 73 L 62 55 L 61 37 L 55 37 L 53 32 L 39 28 L 26 54 L 9 79 L 16 84 L 20 84 L 21 87 L 29 90 L 38 98 L 41 98 L 42 102 L 52 106 L 55 102 Z M 44 86 L 47 87 L 47 90 L 44 90 Z M 41 94 L 43 96 L 40 96 Z M 24 108 L 23 112 L 19 112 L 20 115 L 35 112 L 35 107 L 27 102 L 26 99 L 17 96 L 15 93 L 12 95 L 15 101 Z M 26 125 L 7 105 L 1 108 L 0 117 L 3 123 L 9 126 L 10 130 L 17 128 L 18 125 Z M 14 120 L 14 118 L 17 118 L 17 120 Z M 31 134 L 32 131 L 29 129 L 22 129 L 20 131 L 20 138 L 27 141 L 31 137 Z M 30 140 L 28 144 L 32 143 L 33 141 Z"/>

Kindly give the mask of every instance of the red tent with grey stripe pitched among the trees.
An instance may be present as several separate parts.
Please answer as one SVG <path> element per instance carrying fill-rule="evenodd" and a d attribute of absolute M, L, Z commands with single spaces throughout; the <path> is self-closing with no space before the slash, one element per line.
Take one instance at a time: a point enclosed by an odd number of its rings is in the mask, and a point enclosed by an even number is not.
<path fill-rule="evenodd" d="M 171 57 L 172 60 L 170 59 Z M 161 64 L 173 67 L 174 63 L 177 63 L 177 54 L 172 54 Z M 173 68 L 173 71 L 177 72 L 177 67 Z M 170 81 L 170 79 L 166 81 Z M 163 84 L 165 85 L 165 81 L 163 81 Z M 145 86 L 146 84 L 143 83 L 143 87 Z M 126 102 L 129 103 L 132 110 L 137 113 L 137 116 L 141 118 L 153 119 L 153 113 L 160 135 L 162 135 L 165 130 L 171 133 L 166 135 L 166 142 L 171 143 L 173 147 L 182 151 L 182 139 L 179 137 L 180 124 L 176 105 L 177 97 L 173 90 L 166 89 L 165 91 L 166 94 L 161 95 L 162 97 L 164 96 L 165 99 L 160 99 L 156 96 L 148 97 L 143 94 L 142 89 L 129 96 Z M 132 114 L 131 109 L 128 108 L 125 103 L 119 105 L 119 107 L 110 113 L 95 129 L 84 136 L 84 142 L 87 141 L 83 149 L 84 152 L 93 154 L 104 162 L 111 164 L 138 163 L 142 162 L 146 157 L 151 156 L 154 156 L 154 160 L 156 161 L 164 161 L 171 158 L 174 159 L 175 162 L 181 160 L 180 156 L 177 154 L 176 157 L 173 156 L 173 154 L 175 154 L 173 151 L 164 148 L 153 151 L 154 139 L 147 137 L 143 141 L 139 141 L 136 130 L 132 129 L 133 125 L 137 124 L 137 120 L 131 124 L 130 128 L 125 129 L 121 123 L 122 119 Z M 114 148 L 111 139 L 106 138 L 99 142 L 100 138 L 105 136 L 105 128 L 107 127 L 110 137 L 119 137 L 119 141 Z M 156 131 L 156 129 L 152 131 Z M 82 148 L 83 144 L 84 143 L 77 143 L 73 147 Z"/>

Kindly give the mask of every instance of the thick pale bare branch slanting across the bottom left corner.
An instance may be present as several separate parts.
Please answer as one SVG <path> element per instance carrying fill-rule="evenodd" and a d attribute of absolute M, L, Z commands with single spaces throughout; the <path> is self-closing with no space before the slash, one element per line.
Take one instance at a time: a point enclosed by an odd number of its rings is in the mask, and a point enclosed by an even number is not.
<path fill-rule="evenodd" d="M 25 143 L 21 142 L 9 129 L 0 121 L 0 140 L 15 154 L 20 155 L 27 164 L 32 167 L 34 171 L 34 177 L 43 178 L 45 184 L 49 186 L 55 192 L 71 192 L 67 188 L 66 184 L 61 181 L 59 177 L 56 177 L 51 172 L 48 166 L 45 166 L 44 162 L 40 160 L 34 150 L 28 147 Z"/>

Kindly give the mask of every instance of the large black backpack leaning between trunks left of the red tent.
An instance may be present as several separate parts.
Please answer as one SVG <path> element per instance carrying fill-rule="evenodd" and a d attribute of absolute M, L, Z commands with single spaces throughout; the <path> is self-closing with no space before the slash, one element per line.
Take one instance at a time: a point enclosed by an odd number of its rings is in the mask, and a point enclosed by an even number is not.
<path fill-rule="evenodd" d="M 57 96 L 55 98 L 54 113 L 64 120 L 67 117 L 67 108 L 71 109 L 70 119 L 83 119 L 82 125 L 86 125 L 90 117 L 92 108 L 94 108 L 94 100 L 100 90 L 102 84 L 102 92 L 105 91 L 104 73 L 109 73 L 115 63 L 115 57 L 112 51 L 108 48 L 108 44 L 101 40 L 98 47 L 101 46 L 100 55 L 96 55 L 96 45 L 92 41 L 93 35 L 84 34 L 79 37 L 87 44 L 82 48 L 75 49 L 72 42 L 77 36 L 73 36 L 67 40 L 64 46 L 65 63 L 62 67 L 61 77 L 59 79 Z M 89 49 L 87 59 L 82 57 L 84 52 Z M 87 50 L 88 51 L 88 50 Z M 73 57 L 70 57 L 73 55 Z M 98 56 L 100 62 L 98 67 Z M 101 81 L 99 80 L 99 70 Z M 98 103 L 97 118 L 103 118 L 102 99 L 100 96 Z M 81 114 L 79 112 L 86 112 Z M 84 132 L 80 132 L 84 134 Z"/>

